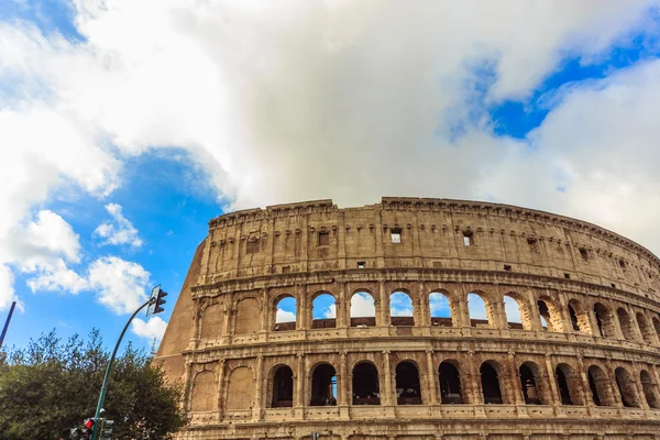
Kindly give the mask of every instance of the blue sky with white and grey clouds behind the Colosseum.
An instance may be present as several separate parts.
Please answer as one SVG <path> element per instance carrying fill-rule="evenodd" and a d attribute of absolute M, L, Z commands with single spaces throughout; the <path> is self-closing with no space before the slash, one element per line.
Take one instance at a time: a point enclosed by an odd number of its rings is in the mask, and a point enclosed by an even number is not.
<path fill-rule="evenodd" d="M 6 344 L 113 343 L 162 284 L 148 349 L 208 220 L 266 205 L 496 201 L 659 254 L 659 37 L 649 0 L 1 0 Z"/>

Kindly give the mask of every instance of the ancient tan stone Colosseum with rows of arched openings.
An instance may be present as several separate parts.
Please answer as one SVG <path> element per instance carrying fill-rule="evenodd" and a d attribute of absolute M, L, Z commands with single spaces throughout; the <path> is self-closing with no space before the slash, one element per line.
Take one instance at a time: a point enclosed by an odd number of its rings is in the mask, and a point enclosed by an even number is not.
<path fill-rule="evenodd" d="M 209 222 L 156 359 L 178 439 L 660 439 L 659 292 L 657 256 L 568 217 L 277 205 Z"/>

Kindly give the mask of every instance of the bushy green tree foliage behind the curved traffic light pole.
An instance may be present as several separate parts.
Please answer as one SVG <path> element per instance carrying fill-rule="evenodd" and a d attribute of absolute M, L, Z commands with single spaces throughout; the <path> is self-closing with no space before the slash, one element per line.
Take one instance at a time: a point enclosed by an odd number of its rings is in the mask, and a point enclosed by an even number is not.
<path fill-rule="evenodd" d="M 109 359 L 98 330 L 0 352 L 0 440 L 58 439 L 94 417 Z M 114 360 L 103 403 L 114 439 L 169 439 L 186 424 L 182 388 L 151 361 L 131 344 Z"/>

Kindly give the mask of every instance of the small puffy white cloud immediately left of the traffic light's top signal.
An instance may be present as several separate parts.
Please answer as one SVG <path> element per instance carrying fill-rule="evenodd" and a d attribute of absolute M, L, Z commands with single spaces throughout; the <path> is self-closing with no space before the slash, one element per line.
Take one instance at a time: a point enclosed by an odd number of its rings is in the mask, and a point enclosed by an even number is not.
<path fill-rule="evenodd" d="M 140 264 L 117 256 L 105 256 L 89 265 L 90 288 L 98 292 L 99 302 L 116 314 L 135 311 L 146 300 L 150 273 Z"/>

